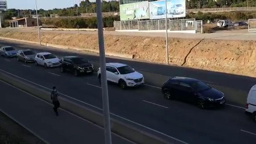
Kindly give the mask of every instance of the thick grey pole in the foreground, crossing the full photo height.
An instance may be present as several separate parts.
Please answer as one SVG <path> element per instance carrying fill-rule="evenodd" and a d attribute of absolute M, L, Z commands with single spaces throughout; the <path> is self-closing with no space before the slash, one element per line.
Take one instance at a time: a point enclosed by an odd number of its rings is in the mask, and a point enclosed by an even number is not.
<path fill-rule="evenodd" d="M 99 41 L 99 58 L 101 71 L 102 103 L 104 116 L 105 144 L 111 144 L 111 128 L 109 116 L 109 94 L 106 78 L 106 58 L 104 49 L 104 35 L 102 28 L 101 0 L 96 0 L 98 41 Z"/>

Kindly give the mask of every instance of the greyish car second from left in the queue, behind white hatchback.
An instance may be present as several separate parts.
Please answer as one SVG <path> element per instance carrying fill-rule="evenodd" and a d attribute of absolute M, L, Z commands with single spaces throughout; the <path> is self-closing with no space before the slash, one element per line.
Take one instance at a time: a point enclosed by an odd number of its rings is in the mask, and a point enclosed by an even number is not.
<path fill-rule="evenodd" d="M 34 62 L 35 61 L 35 53 L 30 49 L 22 49 L 17 53 L 17 61 Z"/>

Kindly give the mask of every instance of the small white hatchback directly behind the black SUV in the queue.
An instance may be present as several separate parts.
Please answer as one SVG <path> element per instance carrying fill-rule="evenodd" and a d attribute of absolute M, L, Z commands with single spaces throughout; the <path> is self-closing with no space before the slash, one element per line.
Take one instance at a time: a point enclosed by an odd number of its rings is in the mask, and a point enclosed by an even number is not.
<path fill-rule="evenodd" d="M 45 68 L 58 67 L 60 66 L 60 60 L 54 54 L 49 52 L 42 52 L 36 54 L 35 65 L 43 65 Z"/>

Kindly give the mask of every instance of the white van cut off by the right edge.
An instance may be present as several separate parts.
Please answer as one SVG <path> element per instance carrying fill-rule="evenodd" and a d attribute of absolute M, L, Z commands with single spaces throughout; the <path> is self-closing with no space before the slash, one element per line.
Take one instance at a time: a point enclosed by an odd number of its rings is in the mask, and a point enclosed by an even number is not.
<path fill-rule="evenodd" d="M 248 93 L 246 112 L 252 113 L 256 122 L 256 85 L 254 85 Z"/>

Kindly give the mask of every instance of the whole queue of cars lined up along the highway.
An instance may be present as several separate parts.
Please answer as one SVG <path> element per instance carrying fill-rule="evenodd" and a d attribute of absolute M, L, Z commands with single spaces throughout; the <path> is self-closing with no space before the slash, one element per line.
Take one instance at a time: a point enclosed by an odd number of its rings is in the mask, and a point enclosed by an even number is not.
<path fill-rule="evenodd" d="M 24 63 L 34 62 L 45 68 L 60 67 L 60 72 L 70 72 L 74 76 L 81 74 L 93 74 L 94 66 L 86 58 L 78 56 L 64 56 L 59 59 L 48 52 L 35 53 L 30 49 L 17 51 L 14 47 L 1 47 L 0 56 L 16 57 L 17 61 Z M 116 83 L 120 88 L 141 86 L 145 83 L 143 74 L 136 72 L 129 65 L 123 63 L 106 63 L 107 80 Z M 100 67 L 97 70 L 97 78 L 101 82 Z M 256 86 L 250 90 L 246 103 L 246 112 L 253 115 L 256 122 Z M 162 93 L 165 99 L 177 99 L 193 103 L 200 109 L 215 106 L 224 106 L 225 95 L 208 84 L 188 77 L 172 77 L 163 83 Z"/>

